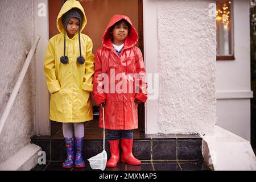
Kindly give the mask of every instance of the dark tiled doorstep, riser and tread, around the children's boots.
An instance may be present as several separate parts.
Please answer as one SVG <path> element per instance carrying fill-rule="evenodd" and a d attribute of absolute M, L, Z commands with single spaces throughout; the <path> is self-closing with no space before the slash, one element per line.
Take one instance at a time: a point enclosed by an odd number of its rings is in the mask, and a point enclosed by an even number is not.
<path fill-rule="evenodd" d="M 37 144 L 46 152 L 47 164 L 38 165 L 35 170 L 67 170 L 61 168 L 66 156 L 63 137 L 33 137 L 31 143 Z M 109 159 L 110 150 L 107 140 L 105 140 L 105 148 Z M 84 159 L 89 159 L 101 151 L 102 138 L 84 140 Z M 135 132 L 133 154 L 142 160 L 141 166 L 119 163 L 115 168 L 106 168 L 106 171 L 209 170 L 202 155 L 202 138 L 197 134 L 144 135 Z M 87 160 L 86 163 L 85 168 L 69 170 L 92 170 Z"/>

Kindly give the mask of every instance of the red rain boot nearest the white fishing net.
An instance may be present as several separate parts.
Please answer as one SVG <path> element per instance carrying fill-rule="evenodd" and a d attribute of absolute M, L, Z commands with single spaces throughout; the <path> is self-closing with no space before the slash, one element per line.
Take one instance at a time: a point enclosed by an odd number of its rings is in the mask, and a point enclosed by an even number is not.
<path fill-rule="evenodd" d="M 108 160 L 107 167 L 115 167 L 120 160 L 119 155 L 119 139 L 118 140 L 109 140 L 111 158 Z"/>

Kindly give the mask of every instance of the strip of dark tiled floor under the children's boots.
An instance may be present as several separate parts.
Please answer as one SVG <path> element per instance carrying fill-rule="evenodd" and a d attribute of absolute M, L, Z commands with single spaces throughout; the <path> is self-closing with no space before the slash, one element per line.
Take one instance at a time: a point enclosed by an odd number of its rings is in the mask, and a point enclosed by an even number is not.
<path fill-rule="evenodd" d="M 47 162 L 46 165 L 37 165 L 34 171 L 92 171 L 89 162 L 86 162 L 84 168 L 62 168 L 63 162 Z M 117 167 L 108 168 L 105 171 L 205 171 L 209 170 L 204 163 L 200 161 L 177 161 L 177 160 L 142 160 L 140 166 L 132 166 L 127 163 L 118 163 Z"/>

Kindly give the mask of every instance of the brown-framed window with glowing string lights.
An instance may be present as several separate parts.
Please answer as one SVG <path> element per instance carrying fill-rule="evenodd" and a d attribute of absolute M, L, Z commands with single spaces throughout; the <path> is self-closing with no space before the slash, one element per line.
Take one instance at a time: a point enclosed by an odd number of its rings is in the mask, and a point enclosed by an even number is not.
<path fill-rule="evenodd" d="M 233 1 L 216 1 L 217 60 L 234 60 Z"/>

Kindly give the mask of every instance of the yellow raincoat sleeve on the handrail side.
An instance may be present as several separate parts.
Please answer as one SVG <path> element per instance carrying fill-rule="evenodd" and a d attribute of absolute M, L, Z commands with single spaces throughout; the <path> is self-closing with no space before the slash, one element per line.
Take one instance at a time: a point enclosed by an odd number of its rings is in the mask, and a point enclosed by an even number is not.
<path fill-rule="evenodd" d="M 55 73 L 54 52 L 54 45 L 52 39 L 50 39 L 46 49 L 46 57 L 44 58 L 44 72 L 46 73 L 46 83 L 50 93 L 60 90 L 60 83 Z"/>

